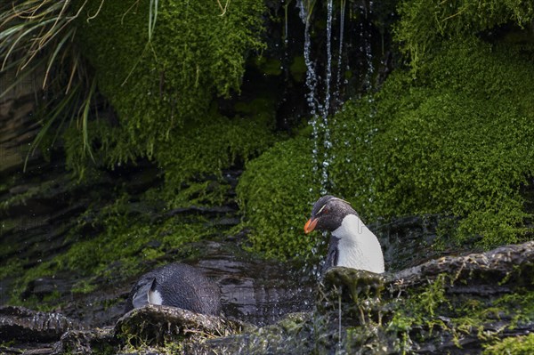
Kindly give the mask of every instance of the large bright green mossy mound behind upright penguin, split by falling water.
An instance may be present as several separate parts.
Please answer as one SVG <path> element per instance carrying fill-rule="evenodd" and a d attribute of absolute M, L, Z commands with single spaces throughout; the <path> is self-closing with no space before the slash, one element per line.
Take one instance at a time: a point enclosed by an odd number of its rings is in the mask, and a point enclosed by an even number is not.
<path fill-rule="evenodd" d="M 352 202 L 364 222 L 442 214 L 459 218 L 450 232 L 458 243 L 524 240 L 530 214 L 520 189 L 534 166 L 528 55 L 475 39 L 449 42 L 419 74 L 398 69 L 381 91 L 331 119 L 328 192 Z M 287 141 L 247 165 L 239 196 L 258 230 L 255 246 L 286 256 L 310 250 L 296 227 L 318 198 L 309 192 L 320 180 L 312 146 Z"/>

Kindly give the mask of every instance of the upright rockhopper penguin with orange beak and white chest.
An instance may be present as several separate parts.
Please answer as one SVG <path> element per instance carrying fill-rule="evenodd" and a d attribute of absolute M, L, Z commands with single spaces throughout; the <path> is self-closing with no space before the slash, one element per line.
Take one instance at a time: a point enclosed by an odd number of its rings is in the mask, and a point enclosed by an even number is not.
<path fill-rule="evenodd" d="M 306 234 L 312 230 L 332 232 L 323 274 L 333 266 L 384 272 L 384 255 L 378 239 L 347 201 L 330 195 L 318 199 L 304 225 Z"/>

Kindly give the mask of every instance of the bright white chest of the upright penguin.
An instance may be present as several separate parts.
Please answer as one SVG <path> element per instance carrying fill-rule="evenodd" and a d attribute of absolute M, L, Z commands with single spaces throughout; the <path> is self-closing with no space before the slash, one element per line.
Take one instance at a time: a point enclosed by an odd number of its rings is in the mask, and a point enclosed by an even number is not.
<path fill-rule="evenodd" d="M 384 272 L 384 254 L 375 234 L 357 215 L 344 217 L 341 226 L 332 232 L 339 238 L 336 266 Z"/>

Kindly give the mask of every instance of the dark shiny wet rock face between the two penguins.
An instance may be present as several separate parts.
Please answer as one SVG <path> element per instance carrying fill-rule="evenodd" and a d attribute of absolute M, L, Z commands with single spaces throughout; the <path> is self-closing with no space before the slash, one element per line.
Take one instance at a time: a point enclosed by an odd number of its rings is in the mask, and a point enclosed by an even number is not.
<path fill-rule="evenodd" d="M 311 273 L 287 262 L 251 257 L 236 244 L 202 242 L 202 255 L 192 262 L 219 285 L 227 318 L 265 326 L 288 313 L 312 309 Z"/>

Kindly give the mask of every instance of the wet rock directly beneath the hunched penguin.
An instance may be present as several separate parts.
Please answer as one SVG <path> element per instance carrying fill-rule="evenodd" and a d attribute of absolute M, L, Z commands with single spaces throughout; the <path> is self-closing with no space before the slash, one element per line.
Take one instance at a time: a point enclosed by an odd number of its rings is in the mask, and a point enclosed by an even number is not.
<path fill-rule="evenodd" d="M 149 304 L 118 319 L 115 334 L 125 343 L 153 345 L 231 335 L 242 327 L 219 317 Z"/>

